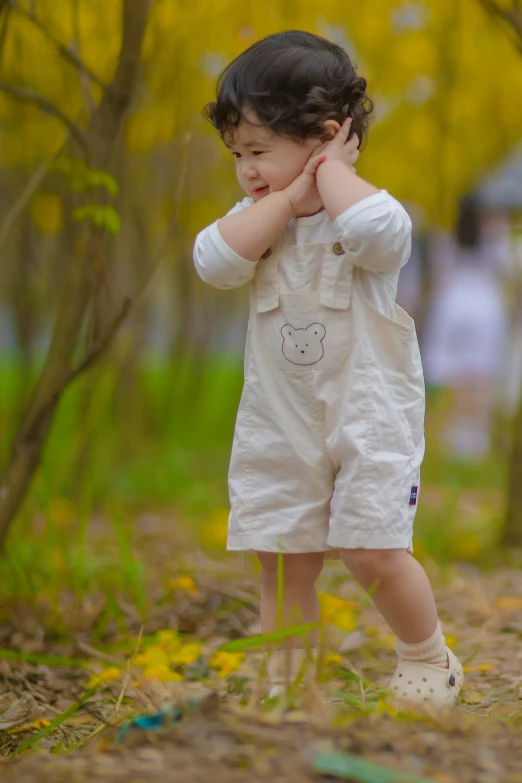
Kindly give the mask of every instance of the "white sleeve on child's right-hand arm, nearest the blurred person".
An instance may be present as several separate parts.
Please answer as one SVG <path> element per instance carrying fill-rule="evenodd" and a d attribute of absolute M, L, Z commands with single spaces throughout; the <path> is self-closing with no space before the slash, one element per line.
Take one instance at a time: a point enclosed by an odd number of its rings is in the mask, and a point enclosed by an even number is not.
<path fill-rule="evenodd" d="M 353 264 L 369 272 L 397 271 L 410 257 L 410 217 L 385 190 L 354 204 L 333 225 Z"/>

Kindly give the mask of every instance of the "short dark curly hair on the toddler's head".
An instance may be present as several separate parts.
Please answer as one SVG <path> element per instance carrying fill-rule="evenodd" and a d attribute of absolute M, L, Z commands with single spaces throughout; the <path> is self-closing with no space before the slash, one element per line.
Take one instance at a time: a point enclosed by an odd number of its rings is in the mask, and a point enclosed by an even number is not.
<path fill-rule="evenodd" d="M 325 120 L 342 125 L 360 142 L 373 110 L 366 79 L 357 76 L 348 54 L 325 38 L 301 30 L 275 33 L 236 57 L 218 78 L 216 100 L 203 115 L 221 138 L 254 112 L 262 125 L 296 141 L 324 138 Z"/>

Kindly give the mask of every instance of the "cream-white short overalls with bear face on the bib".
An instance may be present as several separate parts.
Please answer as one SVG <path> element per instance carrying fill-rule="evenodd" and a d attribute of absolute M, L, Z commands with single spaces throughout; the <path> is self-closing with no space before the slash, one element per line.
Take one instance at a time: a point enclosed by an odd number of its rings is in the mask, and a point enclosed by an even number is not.
<path fill-rule="evenodd" d="M 228 549 L 411 549 L 424 454 L 413 321 L 376 309 L 349 237 L 288 238 L 251 287 Z"/>

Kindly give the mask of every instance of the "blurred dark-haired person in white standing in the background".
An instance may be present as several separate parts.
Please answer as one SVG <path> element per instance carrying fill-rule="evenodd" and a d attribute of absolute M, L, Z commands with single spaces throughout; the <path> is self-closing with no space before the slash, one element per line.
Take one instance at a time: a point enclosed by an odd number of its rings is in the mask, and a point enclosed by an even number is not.
<path fill-rule="evenodd" d="M 452 390 L 443 439 L 456 458 L 489 453 L 506 385 L 510 328 L 503 280 L 511 261 L 503 226 L 501 216 L 484 213 L 471 194 L 460 202 L 454 236 L 439 238 L 434 249 L 423 363 L 428 385 Z"/>

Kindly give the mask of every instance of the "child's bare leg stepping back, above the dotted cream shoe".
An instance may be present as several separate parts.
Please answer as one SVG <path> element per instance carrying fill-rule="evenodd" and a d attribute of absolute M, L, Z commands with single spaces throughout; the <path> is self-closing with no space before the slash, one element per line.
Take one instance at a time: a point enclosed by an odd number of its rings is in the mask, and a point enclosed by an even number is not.
<path fill-rule="evenodd" d="M 421 564 L 405 549 L 342 549 L 341 558 L 395 635 L 423 642 L 437 628 L 437 607 Z"/>

